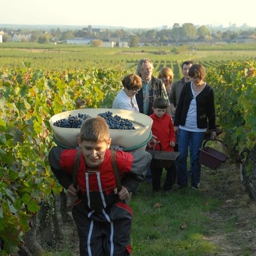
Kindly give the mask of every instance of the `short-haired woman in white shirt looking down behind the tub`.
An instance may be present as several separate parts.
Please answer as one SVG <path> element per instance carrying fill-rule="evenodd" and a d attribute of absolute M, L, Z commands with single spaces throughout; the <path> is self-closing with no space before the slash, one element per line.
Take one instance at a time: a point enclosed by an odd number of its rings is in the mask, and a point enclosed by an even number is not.
<path fill-rule="evenodd" d="M 139 112 L 135 95 L 142 88 L 142 80 L 138 75 L 130 74 L 123 77 L 123 89 L 115 96 L 112 108 Z"/>

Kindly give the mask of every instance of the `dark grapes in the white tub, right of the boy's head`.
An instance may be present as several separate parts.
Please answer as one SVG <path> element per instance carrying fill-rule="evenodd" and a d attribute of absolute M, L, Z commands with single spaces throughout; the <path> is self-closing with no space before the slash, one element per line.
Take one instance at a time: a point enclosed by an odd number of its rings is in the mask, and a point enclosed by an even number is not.
<path fill-rule="evenodd" d="M 128 119 L 121 118 L 119 115 L 114 115 L 110 111 L 105 113 L 98 114 L 100 117 L 103 117 L 109 125 L 109 129 L 118 129 L 118 130 L 135 130 L 133 123 Z"/>

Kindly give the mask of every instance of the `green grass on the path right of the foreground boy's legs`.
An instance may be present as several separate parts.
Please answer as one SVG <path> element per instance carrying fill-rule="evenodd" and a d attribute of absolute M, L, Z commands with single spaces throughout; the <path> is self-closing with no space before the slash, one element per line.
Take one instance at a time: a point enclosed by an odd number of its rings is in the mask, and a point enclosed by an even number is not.
<path fill-rule="evenodd" d="M 154 208 L 156 203 L 162 207 Z M 203 191 L 186 188 L 177 192 L 151 192 L 143 182 L 130 202 L 134 210 L 132 242 L 134 255 L 214 255 L 216 246 L 204 235 L 211 222 L 205 212 L 220 201 L 207 199 Z M 181 229 L 181 225 L 187 228 Z"/>

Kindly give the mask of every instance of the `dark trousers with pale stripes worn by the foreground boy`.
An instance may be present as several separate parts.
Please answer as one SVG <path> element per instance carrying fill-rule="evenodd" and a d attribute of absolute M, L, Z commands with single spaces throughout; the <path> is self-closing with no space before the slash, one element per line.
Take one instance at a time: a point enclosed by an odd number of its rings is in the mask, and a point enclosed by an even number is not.
<path fill-rule="evenodd" d="M 81 202 L 72 208 L 80 240 L 80 256 L 127 256 L 131 250 L 132 214 L 128 205 L 114 205 L 106 210 L 111 222 L 102 213 L 88 211 Z"/>

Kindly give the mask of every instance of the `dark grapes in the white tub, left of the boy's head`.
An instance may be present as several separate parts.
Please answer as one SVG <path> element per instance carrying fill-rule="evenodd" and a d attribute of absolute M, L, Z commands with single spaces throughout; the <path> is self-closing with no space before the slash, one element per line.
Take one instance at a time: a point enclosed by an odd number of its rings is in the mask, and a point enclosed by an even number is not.
<path fill-rule="evenodd" d="M 69 115 L 68 118 L 57 120 L 53 125 L 63 128 L 81 128 L 82 122 L 90 118 L 90 115 L 79 113 L 77 116 Z"/>

